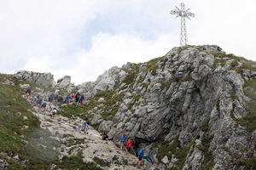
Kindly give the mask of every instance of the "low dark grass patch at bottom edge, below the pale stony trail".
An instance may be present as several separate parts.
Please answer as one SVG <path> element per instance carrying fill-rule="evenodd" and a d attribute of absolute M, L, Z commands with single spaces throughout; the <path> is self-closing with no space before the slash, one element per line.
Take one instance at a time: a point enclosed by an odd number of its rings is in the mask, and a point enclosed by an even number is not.
<path fill-rule="evenodd" d="M 84 162 L 79 156 L 64 156 L 61 162 L 56 162 L 55 164 L 65 170 L 102 170 L 102 168 L 96 166 L 96 163 Z"/>

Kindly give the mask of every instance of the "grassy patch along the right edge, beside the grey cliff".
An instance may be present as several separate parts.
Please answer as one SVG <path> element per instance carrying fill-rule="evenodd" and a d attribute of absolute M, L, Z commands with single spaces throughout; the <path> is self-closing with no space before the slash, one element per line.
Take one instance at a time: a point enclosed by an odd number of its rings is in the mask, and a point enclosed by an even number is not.
<path fill-rule="evenodd" d="M 249 111 L 248 116 L 244 116 L 237 120 L 241 126 L 247 127 L 249 132 L 253 132 L 256 129 L 256 79 L 247 81 L 244 87 L 244 93 L 252 99 L 246 103 L 246 110 Z"/>

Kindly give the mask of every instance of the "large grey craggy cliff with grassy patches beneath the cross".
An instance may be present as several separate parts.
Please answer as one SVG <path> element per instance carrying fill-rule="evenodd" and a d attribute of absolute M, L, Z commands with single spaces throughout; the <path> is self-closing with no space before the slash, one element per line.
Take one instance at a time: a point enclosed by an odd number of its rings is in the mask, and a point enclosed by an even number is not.
<path fill-rule="evenodd" d="M 122 70 L 127 76 L 117 88 L 89 101 L 96 101 L 87 113 L 96 113 L 92 124 L 100 130 L 149 144 L 162 168 L 245 169 L 255 161 L 254 62 L 201 46 Z"/>

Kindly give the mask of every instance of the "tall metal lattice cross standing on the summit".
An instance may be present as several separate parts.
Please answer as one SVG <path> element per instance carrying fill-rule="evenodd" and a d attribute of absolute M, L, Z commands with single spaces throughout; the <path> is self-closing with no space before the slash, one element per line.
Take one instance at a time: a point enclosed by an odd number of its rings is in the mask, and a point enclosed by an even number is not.
<path fill-rule="evenodd" d="M 186 29 L 186 19 L 190 19 L 190 17 L 195 17 L 195 14 L 189 12 L 189 9 L 185 9 L 185 4 L 180 3 L 181 8 L 177 8 L 175 10 L 171 10 L 171 14 L 176 14 L 177 17 L 181 17 L 181 37 L 180 37 L 180 46 L 186 46 L 188 44 L 187 37 L 187 29 Z"/>

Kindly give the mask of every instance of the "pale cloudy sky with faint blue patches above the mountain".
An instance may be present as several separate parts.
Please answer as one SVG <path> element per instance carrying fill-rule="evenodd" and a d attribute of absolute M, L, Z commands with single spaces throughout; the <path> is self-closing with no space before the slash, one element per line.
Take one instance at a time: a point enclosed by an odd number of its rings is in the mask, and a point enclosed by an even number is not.
<path fill-rule="evenodd" d="M 0 72 L 69 75 L 80 84 L 114 65 L 145 62 L 179 46 L 180 3 L 190 45 L 216 44 L 256 60 L 255 0 L 0 0 Z"/>

